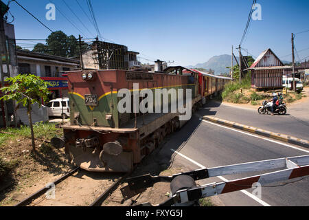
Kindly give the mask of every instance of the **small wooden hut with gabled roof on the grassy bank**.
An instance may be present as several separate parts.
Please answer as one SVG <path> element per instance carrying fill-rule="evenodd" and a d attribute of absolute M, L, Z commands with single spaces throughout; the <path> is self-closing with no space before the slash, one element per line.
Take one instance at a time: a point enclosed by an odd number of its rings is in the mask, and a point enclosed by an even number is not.
<path fill-rule="evenodd" d="M 264 50 L 249 67 L 251 70 L 251 87 L 254 89 L 282 89 L 282 76 L 285 66 L 271 50 Z"/>

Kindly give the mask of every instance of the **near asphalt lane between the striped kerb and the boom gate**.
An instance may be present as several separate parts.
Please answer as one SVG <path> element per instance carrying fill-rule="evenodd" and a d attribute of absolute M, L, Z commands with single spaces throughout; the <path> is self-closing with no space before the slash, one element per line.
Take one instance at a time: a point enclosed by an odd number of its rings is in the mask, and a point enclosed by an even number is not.
<path fill-rule="evenodd" d="M 201 111 L 198 114 L 201 114 Z M 197 115 L 194 115 L 179 132 L 169 137 L 160 156 L 162 162 L 168 162 L 172 158 L 173 166 L 180 166 L 187 171 L 201 168 L 196 163 L 205 167 L 215 167 L 309 154 L 307 148 L 299 148 L 303 149 L 301 151 L 298 148 L 290 148 L 262 138 L 202 122 Z M 179 154 L 172 155 L 171 148 L 192 160 L 185 159 Z M 247 173 L 224 177 L 231 180 L 257 174 Z M 212 177 L 199 181 L 199 184 L 217 181 L 222 181 L 222 179 Z M 252 189 L 247 190 L 247 192 L 252 191 Z M 261 199 L 262 201 L 259 202 L 240 191 L 216 196 L 216 201 L 220 201 L 219 204 L 222 206 L 265 206 L 267 204 L 270 206 L 309 206 L 309 178 L 284 186 L 262 188 Z"/>

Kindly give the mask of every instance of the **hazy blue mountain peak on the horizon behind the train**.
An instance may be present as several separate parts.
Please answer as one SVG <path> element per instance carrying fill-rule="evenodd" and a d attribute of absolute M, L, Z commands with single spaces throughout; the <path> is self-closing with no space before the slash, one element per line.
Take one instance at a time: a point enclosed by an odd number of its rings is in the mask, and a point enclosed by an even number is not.
<path fill-rule="evenodd" d="M 239 58 L 236 58 L 239 61 Z M 237 64 L 235 60 L 234 63 L 235 65 Z M 198 63 L 194 66 L 188 66 L 188 68 L 204 68 L 207 70 L 212 69 L 216 75 L 229 73 L 229 69 L 227 69 L 227 67 L 231 67 L 231 55 L 227 54 L 213 56 L 205 63 Z"/>

